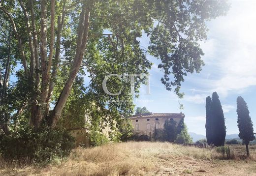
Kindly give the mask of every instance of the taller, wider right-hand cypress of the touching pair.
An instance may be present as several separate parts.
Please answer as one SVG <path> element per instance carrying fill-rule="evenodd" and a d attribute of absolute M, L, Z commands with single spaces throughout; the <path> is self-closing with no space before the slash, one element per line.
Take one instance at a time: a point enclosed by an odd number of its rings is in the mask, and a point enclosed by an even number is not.
<path fill-rule="evenodd" d="M 213 144 L 224 146 L 226 137 L 225 118 L 222 110 L 221 101 L 217 92 L 212 96 L 212 119 L 213 119 Z"/>

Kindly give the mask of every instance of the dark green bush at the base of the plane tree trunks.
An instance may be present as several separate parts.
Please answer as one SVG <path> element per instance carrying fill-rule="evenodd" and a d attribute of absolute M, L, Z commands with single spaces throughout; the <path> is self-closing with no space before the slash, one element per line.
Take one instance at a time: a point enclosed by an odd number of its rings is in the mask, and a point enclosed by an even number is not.
<path fill-rule="evenodd" d="M 49 162 L 68 156 L 74 138 L 64 130 L 30 127 L 19 129 L 9 136 L 0 136 L 0 155 L 5 160 L 28 160 L 30 163 Z"/>

